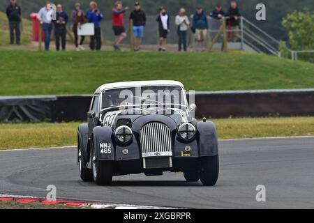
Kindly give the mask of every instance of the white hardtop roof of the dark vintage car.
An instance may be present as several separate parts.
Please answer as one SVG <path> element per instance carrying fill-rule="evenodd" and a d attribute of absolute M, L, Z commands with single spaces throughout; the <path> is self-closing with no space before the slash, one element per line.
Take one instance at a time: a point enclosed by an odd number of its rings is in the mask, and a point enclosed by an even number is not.
<path fill-rule="evenodd" d="M 184 85 L 181 82 L 176 81 L 118 82 L 112 84 L 104 84 L 100 86 L 95 93 L 102 93 L 107 89 L 124 89 L 135 86 L 179 86 L 184 89 Z"/>

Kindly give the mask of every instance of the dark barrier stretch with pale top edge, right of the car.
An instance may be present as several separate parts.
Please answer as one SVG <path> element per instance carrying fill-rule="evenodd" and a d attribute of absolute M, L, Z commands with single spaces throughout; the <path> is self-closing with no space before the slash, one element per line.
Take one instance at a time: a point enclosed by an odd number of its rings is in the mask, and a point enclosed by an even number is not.
<path fill-rule="evenodd" d="M 195 92 L 197 118 L 313 116 L 314 89 Z"/>

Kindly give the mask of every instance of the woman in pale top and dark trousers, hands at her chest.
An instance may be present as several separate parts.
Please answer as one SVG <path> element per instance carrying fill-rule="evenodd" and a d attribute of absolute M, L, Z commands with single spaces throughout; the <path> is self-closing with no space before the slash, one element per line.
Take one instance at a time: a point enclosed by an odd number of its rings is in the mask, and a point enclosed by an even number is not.
<path fill-rule="evenodd" d="M 176 17 L 176 24 L 178 26 L 179 51 L 181 51 L 183 45 L 184 51 L 186 52 L 187 50 L 186 36 L 188 33 L 190 20 L 188 20 L 188 17 L 186 16 L 186 10 L 184 8 L 181 8 L 179 10 L 179 15 L 177 15 Z"/>

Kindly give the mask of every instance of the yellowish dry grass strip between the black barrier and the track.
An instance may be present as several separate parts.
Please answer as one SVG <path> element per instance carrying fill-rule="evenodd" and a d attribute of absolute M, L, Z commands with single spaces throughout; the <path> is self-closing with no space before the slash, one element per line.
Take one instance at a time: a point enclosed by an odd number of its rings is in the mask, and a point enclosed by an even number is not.
<path fill-rule="evenodd" d="M 214 120 L 219 139 L 314 136 L 314 117 Z M 1 124 L 0 150 L 73 146 L 79 123 Z M 19 139 L 19 140 L 17 140 Z"/>

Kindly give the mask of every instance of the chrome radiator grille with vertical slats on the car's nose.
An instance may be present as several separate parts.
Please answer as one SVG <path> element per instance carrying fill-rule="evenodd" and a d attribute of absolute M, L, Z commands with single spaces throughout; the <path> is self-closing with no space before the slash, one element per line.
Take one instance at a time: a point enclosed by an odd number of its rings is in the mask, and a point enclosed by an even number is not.
<path fill-rule="evenodd" d="M 148 123 L 140 132 L 142 157 L 172 156 L 170 128 L 163 123 Z"/>

